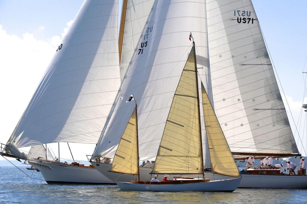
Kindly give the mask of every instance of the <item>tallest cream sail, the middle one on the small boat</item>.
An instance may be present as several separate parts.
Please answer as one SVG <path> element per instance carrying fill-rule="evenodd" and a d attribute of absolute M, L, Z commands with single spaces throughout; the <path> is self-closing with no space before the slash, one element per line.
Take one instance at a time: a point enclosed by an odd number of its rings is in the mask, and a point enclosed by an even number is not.
<path fill-rule="evenodd" d="M 155 173 L 202 173 L 194 48 L 183 68 L 167 117 Z"/>

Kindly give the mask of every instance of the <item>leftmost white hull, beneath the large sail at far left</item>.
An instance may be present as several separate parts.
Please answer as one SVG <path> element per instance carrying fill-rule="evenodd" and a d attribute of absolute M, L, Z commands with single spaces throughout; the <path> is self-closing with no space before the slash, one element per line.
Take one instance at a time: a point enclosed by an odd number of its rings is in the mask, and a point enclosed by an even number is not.
<path fill-rule="evenodd" d="M 65 165 L 47 161 L 29 161 L 34 168 L 40 170 L 48 184 L 115 184 L 99 173 L 95 168 Z"/>

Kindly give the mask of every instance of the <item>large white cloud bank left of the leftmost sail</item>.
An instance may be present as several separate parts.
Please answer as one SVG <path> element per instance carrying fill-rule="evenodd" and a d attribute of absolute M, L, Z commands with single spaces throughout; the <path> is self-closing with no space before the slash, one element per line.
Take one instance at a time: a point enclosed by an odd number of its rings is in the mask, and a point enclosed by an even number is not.
<path fill-rule="evenodd" d="M 9 139 L 72 22 L 67 23 L 61 36 L 44 40 L 31 33 L 9 35 L 0 25 L 1 143 Z"/>

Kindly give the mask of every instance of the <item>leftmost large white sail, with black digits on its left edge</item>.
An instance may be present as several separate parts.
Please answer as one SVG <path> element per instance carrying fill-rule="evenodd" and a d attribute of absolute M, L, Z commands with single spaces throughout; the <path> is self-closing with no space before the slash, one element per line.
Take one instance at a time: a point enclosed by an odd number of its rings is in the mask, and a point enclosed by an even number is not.
<path fill-rule="evenodd" d="M 120 85 L 118 0 L 86 0 L 9 143 L 96 143 Z"/>

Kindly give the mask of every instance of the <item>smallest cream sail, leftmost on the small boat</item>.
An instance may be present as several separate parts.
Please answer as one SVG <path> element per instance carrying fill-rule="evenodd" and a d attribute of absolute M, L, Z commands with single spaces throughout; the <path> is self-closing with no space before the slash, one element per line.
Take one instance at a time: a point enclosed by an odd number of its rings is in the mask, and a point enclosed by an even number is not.
<path fill-rule="evenodd" d="M 120 139 L 110 171 L 138 174 L 138 129 L 136 107 Z"/>

